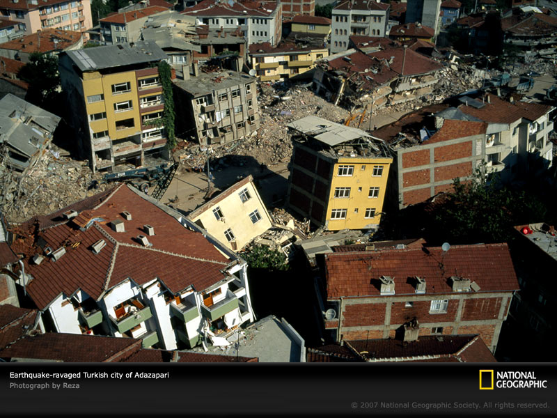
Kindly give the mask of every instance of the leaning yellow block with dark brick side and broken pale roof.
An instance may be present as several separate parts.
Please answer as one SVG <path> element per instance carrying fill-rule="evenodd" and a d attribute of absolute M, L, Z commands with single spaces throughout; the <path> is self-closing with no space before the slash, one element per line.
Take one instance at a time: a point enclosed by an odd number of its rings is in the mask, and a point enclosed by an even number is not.
<path fill-rule="evenodd" d="M 363 130 L 306 116 L 288 124 L 291 210 L 329 231 L 377 229 L 393 159 Z"/>

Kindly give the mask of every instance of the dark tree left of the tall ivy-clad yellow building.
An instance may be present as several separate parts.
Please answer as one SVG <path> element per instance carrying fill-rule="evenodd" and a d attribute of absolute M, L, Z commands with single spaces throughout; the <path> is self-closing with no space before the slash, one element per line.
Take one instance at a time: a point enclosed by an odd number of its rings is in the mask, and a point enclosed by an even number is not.
<path fill-rule="evenodd" d="M 19 70 L 17 77 L 29 83 L 26 100 L 45 107 L 44 104 L 56 100 L 58 95 L 60 87 L 58 57 L 33 52 L 29 56 L 29 63 Z"/>

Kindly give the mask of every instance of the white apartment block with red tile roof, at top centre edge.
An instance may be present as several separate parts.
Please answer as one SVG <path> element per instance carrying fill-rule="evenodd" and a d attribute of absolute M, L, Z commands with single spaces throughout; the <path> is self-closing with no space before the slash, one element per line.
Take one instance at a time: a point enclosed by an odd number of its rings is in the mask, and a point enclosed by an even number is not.
<path fill-rule="evenodd" d="M 282 36 L 282 8 L 278 1 L 234 1 L 232 5 L 219 0 L 203 0 L 182 13 L 196 17 L 197 24 L 209 29 L 240 29 L 247 44 L 269 42 L 276 46 Z"/>

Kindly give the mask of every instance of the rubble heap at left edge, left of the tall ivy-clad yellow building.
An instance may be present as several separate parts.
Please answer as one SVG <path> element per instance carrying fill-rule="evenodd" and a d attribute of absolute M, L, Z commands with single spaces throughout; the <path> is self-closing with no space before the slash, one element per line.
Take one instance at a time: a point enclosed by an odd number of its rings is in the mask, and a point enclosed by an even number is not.
<path fill-rule="evenodd" d="M 10 224 L 56 212 L 113 186 L 102 184 L 102 174 L 93 175 L 86 161 L 61 154 L 64 151 L 51 144 L 38 164 L 26 173 L 1 165 L 0 210 Z"/>

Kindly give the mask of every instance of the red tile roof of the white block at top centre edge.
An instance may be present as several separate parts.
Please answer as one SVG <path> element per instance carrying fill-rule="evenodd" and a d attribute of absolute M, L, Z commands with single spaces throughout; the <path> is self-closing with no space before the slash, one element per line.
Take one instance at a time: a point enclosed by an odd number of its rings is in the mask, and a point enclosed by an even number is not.
<path fill-rule="evenodd" d="M 203 0 L 196 6 L 184 10 L 184 15 L 190 16 L 265 16 L 273 14 L 278 6 L 275 1 L 235 1 L 230 7 L 226 2 L 217 3 L 216 0 Z M 244 13 L 244 11 L 246 13 Z"/>

